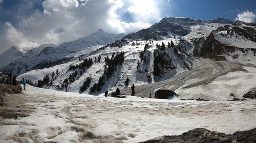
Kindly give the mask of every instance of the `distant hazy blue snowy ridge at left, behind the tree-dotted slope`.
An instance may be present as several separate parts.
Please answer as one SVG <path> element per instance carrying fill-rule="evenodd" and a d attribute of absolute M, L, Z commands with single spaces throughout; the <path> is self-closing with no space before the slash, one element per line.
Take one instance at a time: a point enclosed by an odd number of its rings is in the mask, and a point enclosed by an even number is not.
<path fill-rule="evenodd" d="M 13 71 L 14 74 L 22 74 L 29 70 L 46 68 L 53 65 L 68 62 L 72 57 L 66 57 L 81 49 L 97 46 L 121 39 L 124 34 L 109 34 L 102 30 L 90 36 L 80 38 L 76 41 L 65 42 L 59 45 L 41 45 L 26 52 L 12 60 L 8 66 L 3 67 L 4 71 Z"/>

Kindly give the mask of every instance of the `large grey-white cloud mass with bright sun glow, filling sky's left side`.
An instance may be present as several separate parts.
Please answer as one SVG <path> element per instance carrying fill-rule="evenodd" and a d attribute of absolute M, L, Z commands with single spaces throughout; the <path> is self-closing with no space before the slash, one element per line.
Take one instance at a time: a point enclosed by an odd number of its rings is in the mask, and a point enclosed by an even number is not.
<path fill-rule="evenodd" d="M 12 45 L 22 48 L 59 44 L 90 35 L 99 28 L 109 33 L 130 33 L 150 26 L 152 19 L 158 21 L 161 18 L 154 0 L 79 2 L 84 3 L 79 5 L 77 0 L 46 0 L 42 3 L 43 13 L 36 10 L 29 18 L 15 24 L 15 27 L 8 22 L 5 34 L 0 36 L 0 50 L 6 50 Z M 117 11 L 124 9 L 124 3 L 129 4 L 125 8 L 127 12 L 136 14 L 135 22 L 122 21 L 118 15 Z"/>

